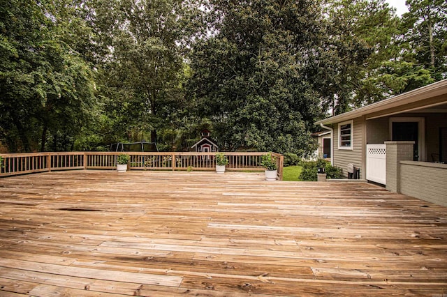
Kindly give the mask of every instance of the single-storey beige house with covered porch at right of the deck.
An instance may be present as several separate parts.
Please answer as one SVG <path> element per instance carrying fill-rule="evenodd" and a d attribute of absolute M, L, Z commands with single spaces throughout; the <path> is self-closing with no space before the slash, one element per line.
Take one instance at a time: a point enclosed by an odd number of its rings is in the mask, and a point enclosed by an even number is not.
<path fill-rule="evenodd" d="M 447 79 L 317 121 L 331 162 L 387 190 L 447 206 Z"/>

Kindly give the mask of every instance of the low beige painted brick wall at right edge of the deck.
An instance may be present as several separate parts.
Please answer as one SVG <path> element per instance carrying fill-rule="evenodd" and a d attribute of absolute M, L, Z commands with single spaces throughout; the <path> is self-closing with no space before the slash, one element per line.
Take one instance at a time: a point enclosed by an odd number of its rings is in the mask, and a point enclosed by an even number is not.
<path fill-rule="evenodd" d="M 406 161 L 400 166 L 402 194 L 447 206 L 446 164 Z"/>

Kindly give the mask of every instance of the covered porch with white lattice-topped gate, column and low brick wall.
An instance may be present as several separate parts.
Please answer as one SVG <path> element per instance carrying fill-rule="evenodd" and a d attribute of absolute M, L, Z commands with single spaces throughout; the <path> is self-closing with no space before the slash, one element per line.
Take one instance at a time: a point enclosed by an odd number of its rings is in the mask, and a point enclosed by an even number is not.
<path fill-rule="evenodd" d="M 367 179 L 447 206 L 447 103 L 366 120 Z"/>

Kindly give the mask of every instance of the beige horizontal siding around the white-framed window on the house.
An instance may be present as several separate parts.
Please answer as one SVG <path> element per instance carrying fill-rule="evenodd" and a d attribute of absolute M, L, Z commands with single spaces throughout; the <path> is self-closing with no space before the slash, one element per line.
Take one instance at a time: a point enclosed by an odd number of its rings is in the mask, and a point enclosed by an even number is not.
<path fill-rule="evenodd" d="M 365 125 L 365 121 L 362 118 L 353 120 L 352 151 L 338 148 L 338 123 L 334 125 L 334 165 L 343 169 L 344 177 L 348 176 L 346 167 L 349 163 L 352 163 L 355 167 L 360 168 L 360 176 L 365 177 L 365 172 L 362 168 L 363 125 Z"/>

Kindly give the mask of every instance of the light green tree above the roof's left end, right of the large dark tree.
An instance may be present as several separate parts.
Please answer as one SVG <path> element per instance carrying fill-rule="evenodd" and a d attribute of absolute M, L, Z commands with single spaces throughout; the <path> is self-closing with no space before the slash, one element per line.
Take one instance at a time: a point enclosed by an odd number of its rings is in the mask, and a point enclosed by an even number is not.
<path fill-rule="evenodd" d="M 328 64 L 332 82 L 321 87 L 332 114 L 386 98 L 378 69 L 395 54 L 399 19 L 384 0 L 328 1 Z M 325 81 L 322 81 L 325 82 Z"/>

